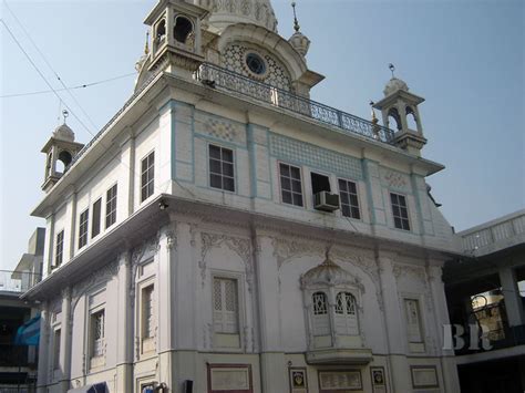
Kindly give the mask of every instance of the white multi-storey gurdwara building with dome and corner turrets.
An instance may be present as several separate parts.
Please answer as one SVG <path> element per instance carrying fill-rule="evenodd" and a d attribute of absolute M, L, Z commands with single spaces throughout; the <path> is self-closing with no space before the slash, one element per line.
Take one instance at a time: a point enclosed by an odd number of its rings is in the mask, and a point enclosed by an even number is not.
<path fill-rule="evenodd" d="M 459 392 L 424 100 L 392 77 L 383 125 L 311 101 L 310 41 L 269 0 L 145 23 L 133 96 L 42 149 L 39 391 Z"/>

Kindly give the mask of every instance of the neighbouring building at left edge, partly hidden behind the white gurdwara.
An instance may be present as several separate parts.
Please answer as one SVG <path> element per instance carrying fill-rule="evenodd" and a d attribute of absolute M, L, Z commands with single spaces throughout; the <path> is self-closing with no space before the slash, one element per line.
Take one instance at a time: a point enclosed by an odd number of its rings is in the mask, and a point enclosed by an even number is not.
<path fill-rule="evenodd" d="M 35 317 L 38 307 L 20 300 L 42 275 L 45 229 L 37 228 L 28 252 L 13 271 L 0 270 L 0 392 L 34 392 L 37 348 L 14 345 L 18 328 Z"/>

